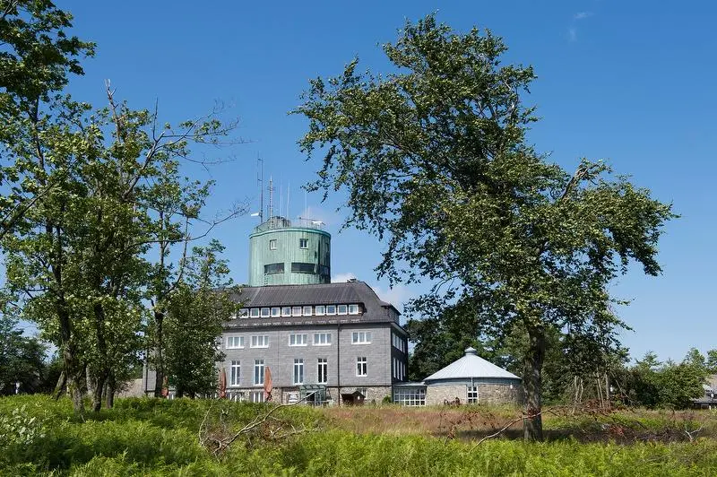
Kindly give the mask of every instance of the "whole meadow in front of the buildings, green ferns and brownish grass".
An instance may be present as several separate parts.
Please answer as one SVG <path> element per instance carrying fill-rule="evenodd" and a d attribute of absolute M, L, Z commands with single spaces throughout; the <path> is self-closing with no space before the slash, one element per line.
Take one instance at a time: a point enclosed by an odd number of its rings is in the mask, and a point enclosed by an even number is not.
<path fill-rule="evenodd" d="M 555 408 L 528 444 L 520 422 L 483 439 L 511 408 L 291 406 L 257 421 L 271 410 L 122 399 L 81 418 L 66 400 L 2 398 L 0 475 L 717 475 L 709 411 Z"/>

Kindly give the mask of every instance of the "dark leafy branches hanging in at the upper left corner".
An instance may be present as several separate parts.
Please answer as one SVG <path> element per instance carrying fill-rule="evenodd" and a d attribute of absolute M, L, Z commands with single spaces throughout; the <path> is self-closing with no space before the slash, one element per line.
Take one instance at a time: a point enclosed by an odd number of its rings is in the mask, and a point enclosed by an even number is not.
<path fill-rule="evenodd" d="M 67 35 L 72 18 L 48 0 L 0 0 L 0 237 L 54 186 L 24 180 L 33 163 L 16 160 L 12 149 L 40 123 L 68 74 L 83 74 L 82 57 L 94 54 L 94 44 Z"/>

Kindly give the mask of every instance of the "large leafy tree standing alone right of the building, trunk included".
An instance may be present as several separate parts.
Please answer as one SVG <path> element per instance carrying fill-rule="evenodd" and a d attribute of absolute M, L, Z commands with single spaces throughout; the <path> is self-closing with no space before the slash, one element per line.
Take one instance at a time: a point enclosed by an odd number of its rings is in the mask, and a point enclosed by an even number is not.
<path fill-rule="evenodd" d="M 525 435 L 541 439 L 546 330 L 599 343 L 621 325 L 609 282 L 631 259 L 661 272 L 656 245 L 674 215 L 602 162 L 571 175 L 535 152 L 522 102 L 535 76 L 502 65 L 505 49 L 432 15 L 407 22 L 384 45 L 393 73 L 358 74 L 354 60 L 311 81 L 295 112 L 309 120 L 302 151 L 324 154 L 310 188 L 348 190 L 347 225 L 386 240 L 379 275 L 435 281 L 446 303 L 488 303 L 493 329 L 523 327 Z"/>

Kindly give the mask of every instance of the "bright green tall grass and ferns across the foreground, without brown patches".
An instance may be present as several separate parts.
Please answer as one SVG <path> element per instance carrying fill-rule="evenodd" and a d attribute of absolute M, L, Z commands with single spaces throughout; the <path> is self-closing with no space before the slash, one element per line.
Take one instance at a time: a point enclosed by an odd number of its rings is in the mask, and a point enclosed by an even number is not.
<path fill-rule="evenodd" d="M 542 444 L 497 439 L 433 438 L 390 429 L 361 432 L 339 420 L 350 412 L 291 407 L 278 413 L 297 428 L 321 427 L 281 442 L 238 440 L 215 457 L 199 444 L 199 428 L 219 413 L 235 429 L 265 405 L 210 401 L 119 400 L 113 410 L 73 415 L 70 403 L 39 396 L 0 399 L 1 475 L 715 475 L 717 440 Z M 429 410 L 357 410 L 394 424 L 423 422 Z M 217 414 L 218 415 L 218 414 Z M 456 414 L 457 415 L 457 414 Z M 337 417 L 338 416 L 338 417 Z M 393 417 L 391 417 L 393 416 Z M 656 429 L 660 423 L 647 425 Z M 669 416 L 668 416 L 669 417 Z M 654 416 L 652 416 L 653 419 Z M 584 418 L 588 421 L 592 418 Z M 412 421 L 411 421 L 412 420 Z M 554 421 L 553 424 L 557 423 Z"/>

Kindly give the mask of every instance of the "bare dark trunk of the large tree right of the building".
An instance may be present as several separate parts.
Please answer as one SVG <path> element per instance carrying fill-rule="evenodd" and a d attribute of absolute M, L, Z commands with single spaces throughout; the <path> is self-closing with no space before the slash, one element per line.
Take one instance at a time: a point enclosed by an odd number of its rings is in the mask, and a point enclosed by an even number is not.
<path fill-rule="evenodd" d="M 528 351 L 523 361 L 523 386 L 525 386 L 526 414 L 531 417 L 523 421 L 525 440 L 543 440 L 542 410 L 542 369 L 545 358 L 545 329 L 541 326 L 528 328 Z"/>

